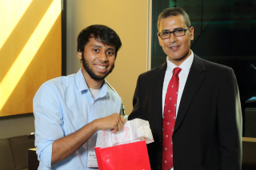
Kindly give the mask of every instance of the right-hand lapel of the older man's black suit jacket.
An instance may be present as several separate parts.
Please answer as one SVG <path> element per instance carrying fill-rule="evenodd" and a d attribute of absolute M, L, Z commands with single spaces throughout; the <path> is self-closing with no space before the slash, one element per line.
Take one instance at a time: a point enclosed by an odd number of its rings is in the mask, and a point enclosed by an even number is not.
<path fill-rule="evenodd" d="M 184 87 L 182 99 L 178 108 L 174 132 L 176 132 L 178 127 L 182 124 L 182 121 L 186 116 L 186 112 L 190 108 L 190 104 L 193 101 L 194 95 L 197 93 L 198 88 L 205 78 L 205 74 L 203 73 L 205 69 L 206 68 L 202 62 L 202 59 L 194 54 L 194 61 L 191 65 L 190 73 L 186 79 L 186 85 Z"/>

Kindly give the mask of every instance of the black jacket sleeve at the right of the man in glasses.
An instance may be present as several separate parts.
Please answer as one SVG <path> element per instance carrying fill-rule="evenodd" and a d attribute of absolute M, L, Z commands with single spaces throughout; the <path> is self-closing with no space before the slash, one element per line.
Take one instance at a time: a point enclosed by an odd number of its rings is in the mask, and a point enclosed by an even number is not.
<path fill-rule="evenodd" d="M 222 169 L 242 169 L 242 112 L 233 69 L 223 73 L 218 96 L 218 139 Z"/>

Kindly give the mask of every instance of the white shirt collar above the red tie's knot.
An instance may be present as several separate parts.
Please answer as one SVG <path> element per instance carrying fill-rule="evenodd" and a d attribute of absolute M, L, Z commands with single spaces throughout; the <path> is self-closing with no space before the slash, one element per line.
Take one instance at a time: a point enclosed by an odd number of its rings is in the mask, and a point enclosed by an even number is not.
<path fill-rule="evenodd" d="M 166 57 L 166 62 L 167 62 L 167 69 L 170 70 L 170 72 L 173 71 L 174 68 L 176 67 L 179 67 L 182 69 L 182 71 L 185 71 L 186 73 L 189 73 L 190 72 L 190 67 L 192 65 L 192 62 L 194 60 L 194 53 L 193 51 L 190 49 L 191 53 L 190 53 L 190 56 L 186 58 L 185 61 L 182 62 L 181 65 L 177 66 L 177 65 L 174 65 L 174 63 L 172 63 L 169 59 L 168 59 L 168 56 Z"/>

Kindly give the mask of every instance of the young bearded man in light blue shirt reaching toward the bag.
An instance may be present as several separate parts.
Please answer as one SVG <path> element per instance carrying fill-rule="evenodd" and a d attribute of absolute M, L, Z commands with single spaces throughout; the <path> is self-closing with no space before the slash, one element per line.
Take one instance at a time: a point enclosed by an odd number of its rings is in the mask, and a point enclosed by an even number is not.
<path fill-rule="evenodd" d="M 78 34 L 78 73 L 46 81 L 33 101 L 38 169 L 95 169 L 88 162 L 97 131 L 117 132 L 122 100 L 104 78 L 114 69 L 122 43 L 107 26 Z M 89 154 L 90 153 L 90 154 Z"/>

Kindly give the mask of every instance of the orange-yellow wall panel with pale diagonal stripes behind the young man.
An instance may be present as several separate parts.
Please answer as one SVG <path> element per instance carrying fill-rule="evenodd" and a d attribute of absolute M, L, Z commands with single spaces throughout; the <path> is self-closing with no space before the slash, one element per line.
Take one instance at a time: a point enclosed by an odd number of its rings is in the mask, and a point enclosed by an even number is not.
<path fill-rule="evenodd" d="M 32 113 L 40 85 L 61 76 L 61 3 L 0 1 L 0 117 Z"/>

